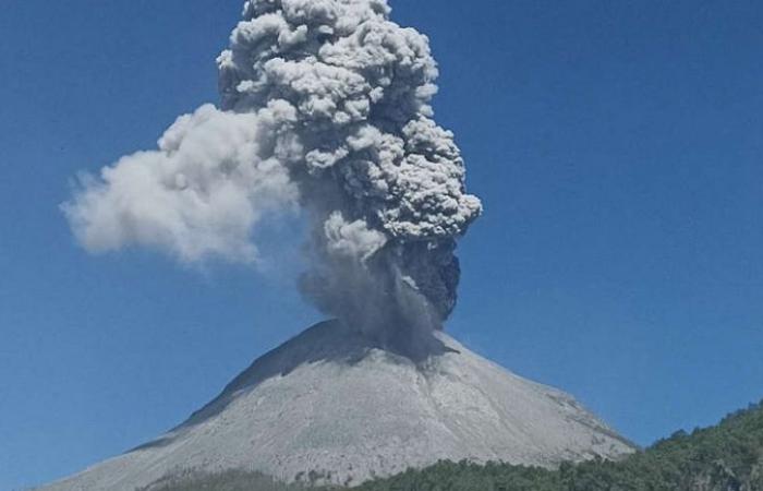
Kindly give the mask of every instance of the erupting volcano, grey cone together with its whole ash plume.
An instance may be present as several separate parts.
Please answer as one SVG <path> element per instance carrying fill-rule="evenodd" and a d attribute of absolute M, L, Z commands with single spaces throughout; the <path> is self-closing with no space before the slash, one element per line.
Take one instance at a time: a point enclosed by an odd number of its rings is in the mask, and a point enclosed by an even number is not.
<path fill-rule="evenodd" d="M 258 225 L 300 213 L 299 287 L 337 321 L 255 361 L 156 442 L 53 489 L 133 489 L 190 467 L 348 483 L 438 458 L 554 465 L 630 451 L 568 396 L 441 332 L 457 241 L 482 206 L 433 119 L 426 36 L 393 23 L 386 0 L 250 0 L 217 64 L 219 107 L 82 179 L 62 205 L 73 232 L 92 252 L 256 265 Z"/>

